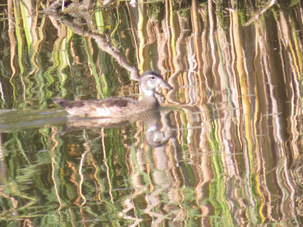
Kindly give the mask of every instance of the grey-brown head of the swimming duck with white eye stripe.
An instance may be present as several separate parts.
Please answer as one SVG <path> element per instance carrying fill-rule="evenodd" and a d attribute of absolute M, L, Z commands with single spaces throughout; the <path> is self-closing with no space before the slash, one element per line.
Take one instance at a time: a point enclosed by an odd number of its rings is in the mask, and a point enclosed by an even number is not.
<path fill-rule="evenodd" d="M 155 71 L 145 71 L 141 75 L 139 83 L 143 94 L 146 95 L 154 95 L 156 87 L 172 89 L 172 87 L 163 80 L 161 74 Z"/>

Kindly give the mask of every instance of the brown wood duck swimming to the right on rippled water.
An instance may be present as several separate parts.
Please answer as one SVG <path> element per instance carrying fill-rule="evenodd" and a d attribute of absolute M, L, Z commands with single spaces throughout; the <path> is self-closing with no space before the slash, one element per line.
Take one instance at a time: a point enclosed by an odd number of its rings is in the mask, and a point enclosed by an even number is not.
<path fill-rule="evenodd" d="M 71 115 L 86 117 L 123 117 L 142 113 L 158 108 L 159 102 L 155 97 L 155 88 L 163 87 L 169 90 L 172 87 L 155 71 L 145 71 L 140 79 L 143 98 L 136 100 L 130 97 L 112 97 L 106 99 L 91 99 L 84 101 L 52 98 L 53 102 L 63 106 Z"/>

